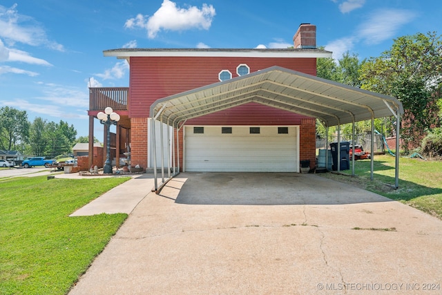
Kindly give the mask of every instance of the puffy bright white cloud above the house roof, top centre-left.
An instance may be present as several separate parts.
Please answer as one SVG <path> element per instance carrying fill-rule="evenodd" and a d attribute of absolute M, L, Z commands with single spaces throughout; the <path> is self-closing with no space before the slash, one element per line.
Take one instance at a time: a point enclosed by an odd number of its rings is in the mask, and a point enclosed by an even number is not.
<path fill-rule="evenodd" d="M 128 19 L 124 26 L 145 28 L 148 38 L 153 39 L 160 30 L 182 31 L 191 28 L 209 30 L 213 17 L 215 17 L 215 8 L 206 3 L 202 4 L 201 9 L 196 6 L 179 8 L 175 2 L 164 0 L 153 16 L 139 14 L 133 19 Z"/>

